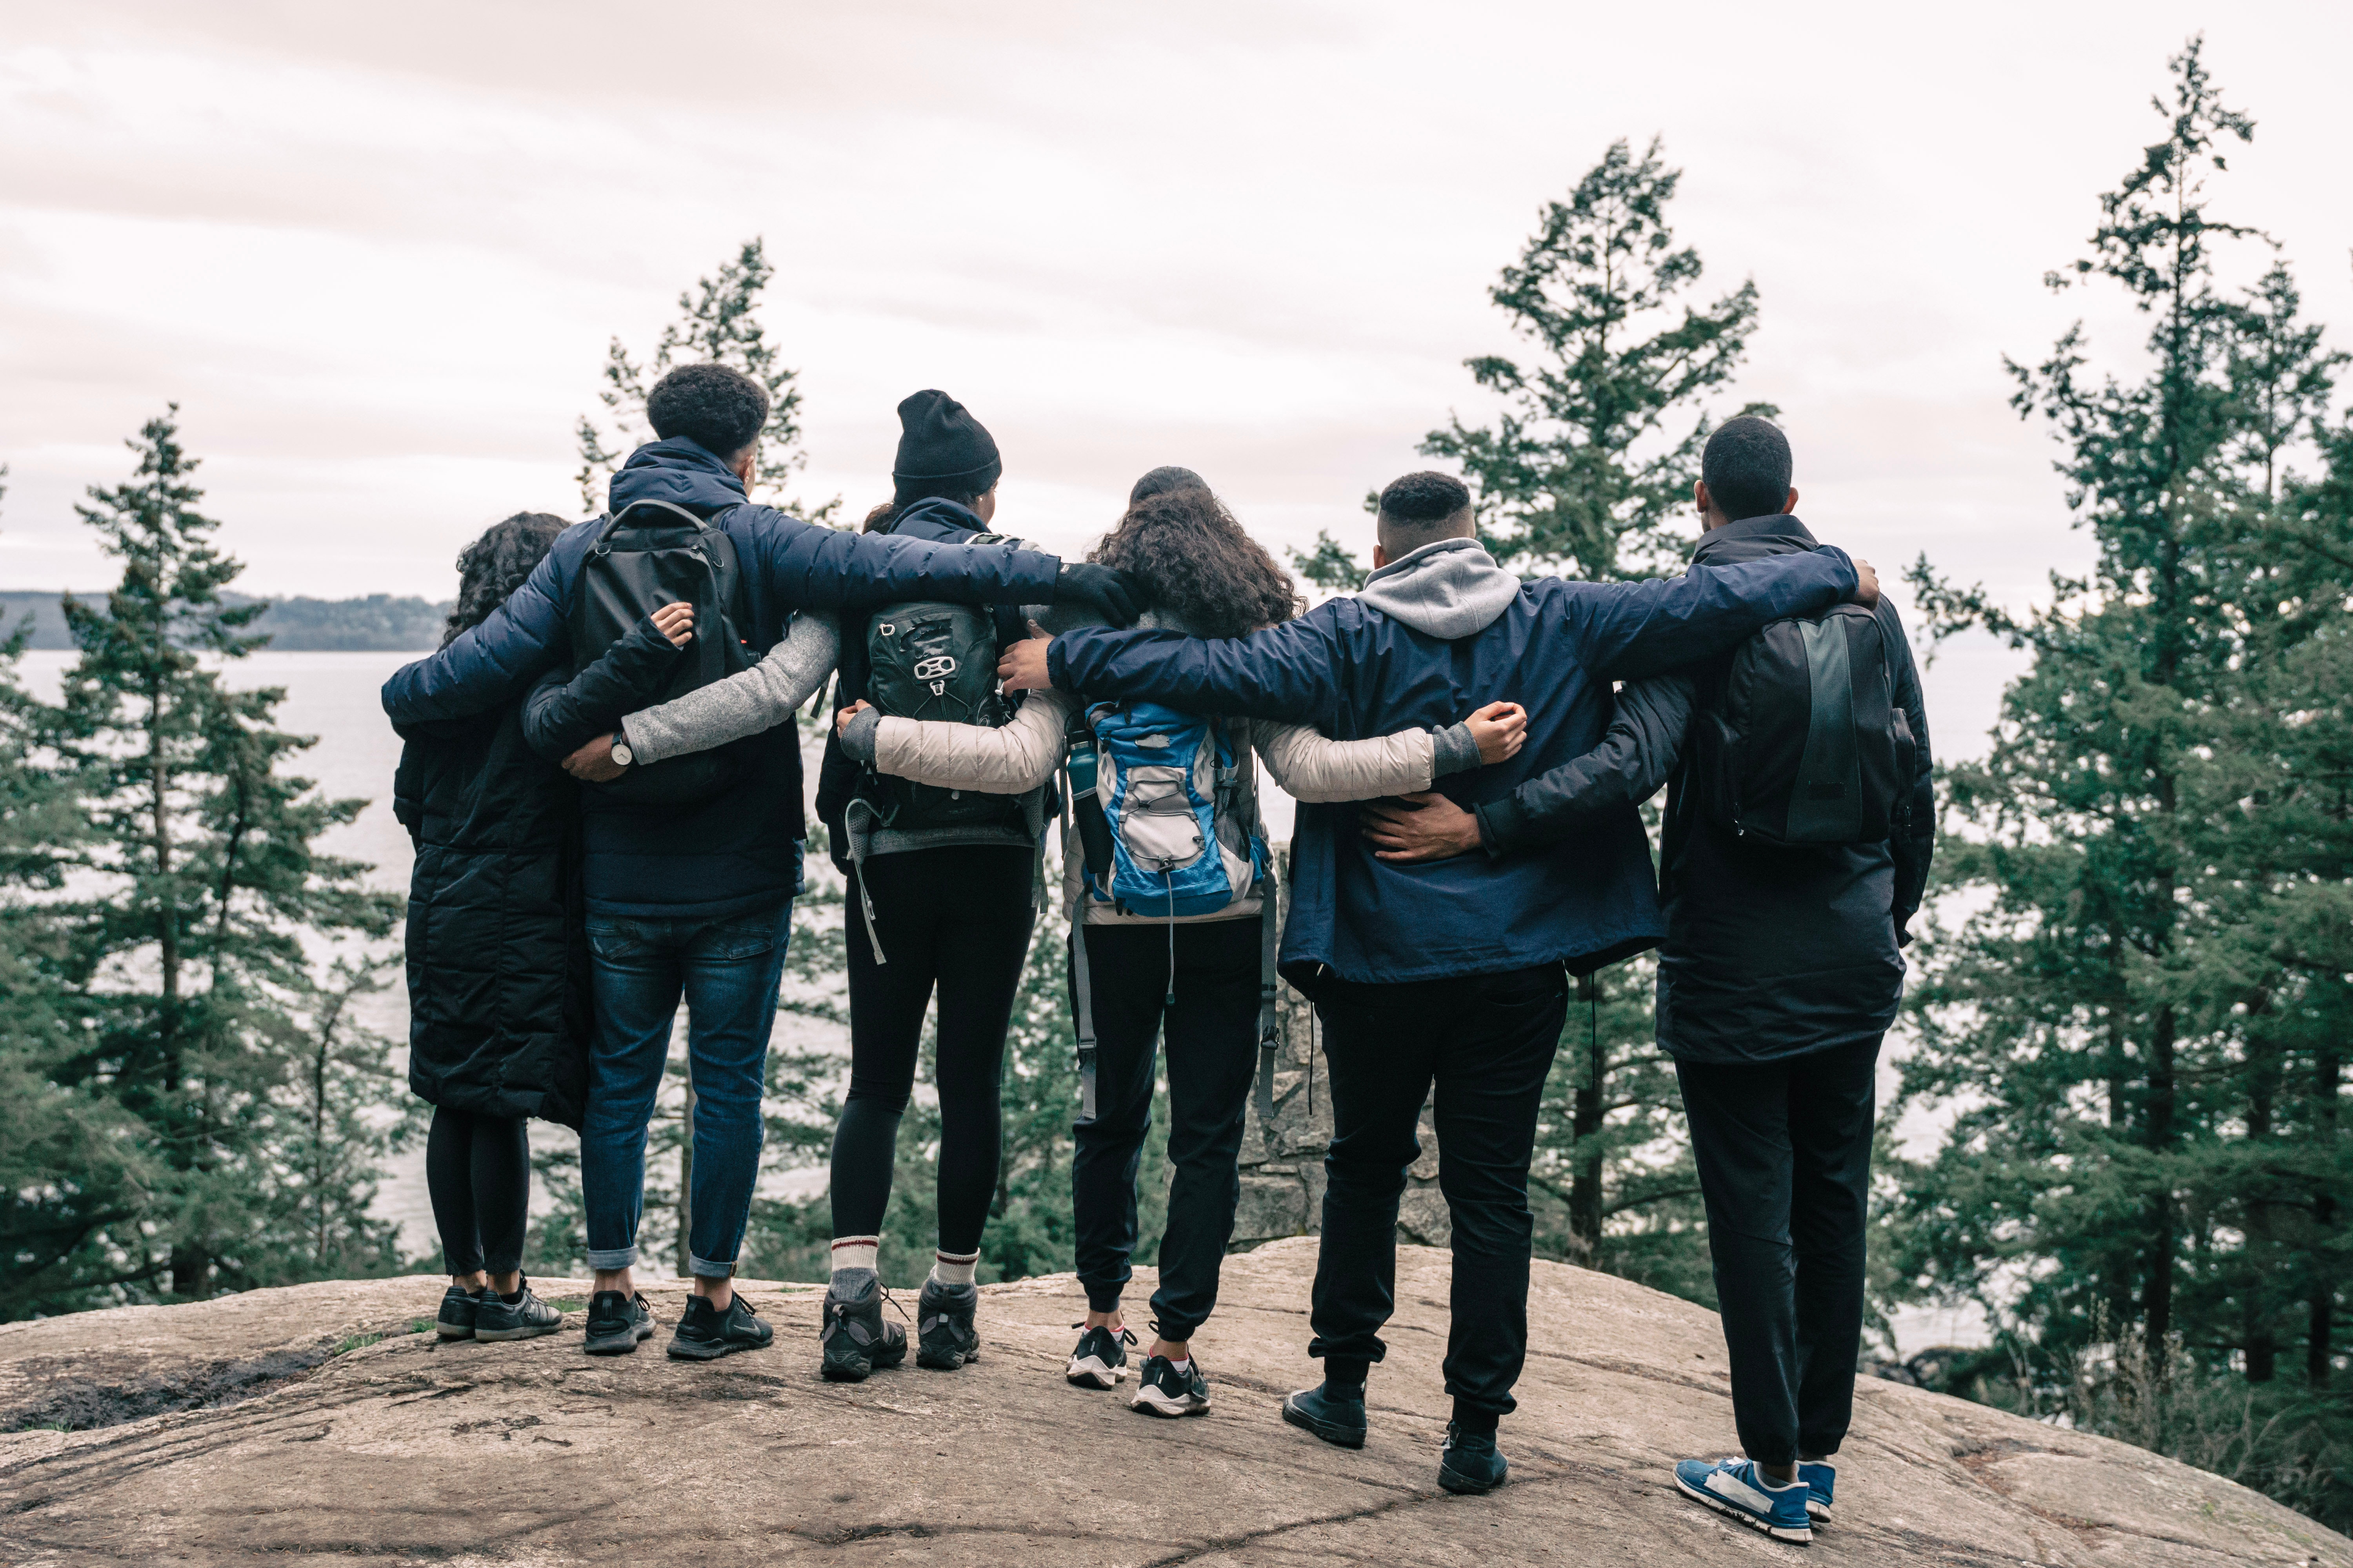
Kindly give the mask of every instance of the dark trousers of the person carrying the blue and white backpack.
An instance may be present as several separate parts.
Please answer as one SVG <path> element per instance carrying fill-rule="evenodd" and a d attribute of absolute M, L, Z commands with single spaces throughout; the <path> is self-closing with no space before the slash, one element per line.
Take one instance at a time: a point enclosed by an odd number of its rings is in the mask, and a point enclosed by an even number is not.
<path fill-rule="evenodd" d="M 1176 1001 L 1169 994 L 1169 940 Z M 1169 1046 L 1169 1220 L 1160 1234 L 1153 1319 L 1191 1340 L 1217 1307 L 1242 1178 L 1242 1112 L 1259 1065 L 1259 922 L 1085 926 L 1094 999 L 1094 1121 L 1071 1161 L 1078 1284 L 1094 1312 L 1120 1305 L 1136 1251 L 1136 1168 L 1153 1121 L 1153 1056 Z"/>

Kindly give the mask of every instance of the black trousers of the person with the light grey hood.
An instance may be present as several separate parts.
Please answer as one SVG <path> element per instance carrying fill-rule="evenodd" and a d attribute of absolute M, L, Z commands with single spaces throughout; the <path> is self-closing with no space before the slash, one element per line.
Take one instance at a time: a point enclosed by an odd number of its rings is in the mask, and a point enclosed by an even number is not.
<path fill-rule="evenodd" d="M 1353 985 L 1315 1001 L 1332 1065 L 1332 1152 L 1315 1255 L 1311 1356 L 1332 1373 L 1386 1354 L 1398 1293 L 1398 1199 L 1438 1086 L 1438 1187 L 1454 1220 L 1447 1394 L 1508 1415 L 1527 1361 L 1527 1161 L 1569 1011 L 1558 964 L 1501 976 Z"/>

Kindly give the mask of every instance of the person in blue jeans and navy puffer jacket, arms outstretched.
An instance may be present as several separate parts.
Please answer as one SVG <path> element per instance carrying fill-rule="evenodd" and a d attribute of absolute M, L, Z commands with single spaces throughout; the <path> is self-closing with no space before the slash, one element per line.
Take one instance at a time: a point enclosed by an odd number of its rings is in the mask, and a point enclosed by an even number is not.
<path fill-rule="evenodd" d="M 1134 618 L 1127 583 L 1106 567 L 1064 564 L 1033 550 L 972 550 L 814 527 L 746 496 L 767 390 L 720 364 L 687 364 L 647 397 L 656 440 L 612 480 L 619 512 L 668 501 L 725 531 L 741 567 L 734 630 L 753 658 L 802 609 L 854 609 L 892 599 L 1038 604 L 1080 599 Z M 569 614 L 598 522 L 558 536 L 546 559 L 487 621 L 384 684 L 395 724 L 464 719 L 518 701 L 569 663 Z M 588 1218 L 588 1349 L 619 1354 L 652 1333 L 631 1267 L 645 1187 L 645 1126 L 680 997 L 694 1072 L 694 1298 L 671 1349 L 708 1359 L 769 1342 L 769 1328 L 734 1300 L 729 1276 L 744 1241 L 760 1164 L 760 1091 L 776 983 L 800 882 L 800 743 L 781 724 L 744 743 L 739 783 L 678 811 L 591 799 L 584 811 L 595 1039 L 581 1128 Z M 609 741 L 602 743 L 607 766 Z"/>

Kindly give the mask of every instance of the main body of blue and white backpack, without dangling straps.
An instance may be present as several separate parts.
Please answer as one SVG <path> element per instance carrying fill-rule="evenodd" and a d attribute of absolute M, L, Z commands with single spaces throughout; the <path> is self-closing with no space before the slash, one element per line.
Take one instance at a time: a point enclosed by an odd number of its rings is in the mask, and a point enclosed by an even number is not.
<path fill-rule="evenodd" d="M 1132 914 L 1217 914 L 1249 898 L 1266 842 L 1245 820 L 1240 741 L 1219 719 L 1160 703 L 1094 712 L 1094 797 L 1111 825 L 1108 886 L 1087 891 Z M 1254 802 L 1252 802 L 1254 804 Z"/>

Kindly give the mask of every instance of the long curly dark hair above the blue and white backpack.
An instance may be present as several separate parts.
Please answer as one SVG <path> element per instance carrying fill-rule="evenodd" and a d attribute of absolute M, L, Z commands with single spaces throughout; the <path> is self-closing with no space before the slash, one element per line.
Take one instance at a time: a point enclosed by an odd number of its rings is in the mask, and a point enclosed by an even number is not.
<path fill-rule="evenodd" d="M 1198 637 L 1247 637 L 1306 609 L 1292 574 L 1202 484 L 1136 501 L 1087 559 L 1134 576 Z"/>

